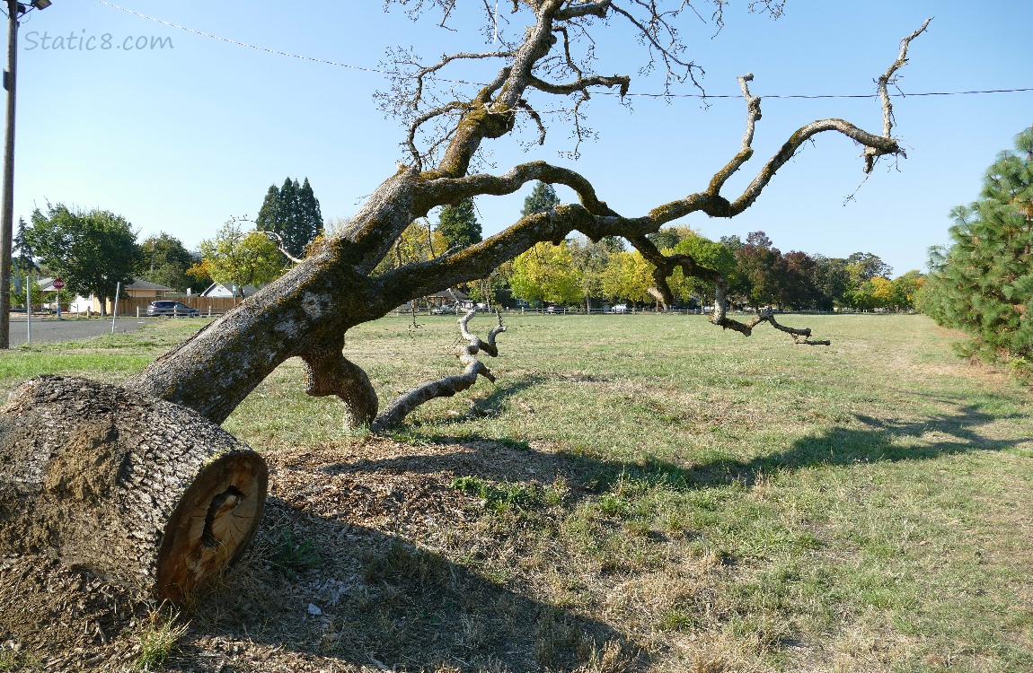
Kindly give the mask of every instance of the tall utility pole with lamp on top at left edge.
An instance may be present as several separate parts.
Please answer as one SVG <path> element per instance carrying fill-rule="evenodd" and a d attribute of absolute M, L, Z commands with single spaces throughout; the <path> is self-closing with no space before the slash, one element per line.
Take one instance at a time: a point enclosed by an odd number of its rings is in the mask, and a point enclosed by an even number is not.
<path fill-rule="evenodd" d="M 18 22 L 31 9 L 18 0 L 7 3 L 7 117 L 3 134 L 3 197 L 0 199 L 0 349 L 10 348 L 10 249 L 14 236 L 14 92 L 18 73 Z M 32 9 L 45 9 L 51 0 L 32 0 Z"/>

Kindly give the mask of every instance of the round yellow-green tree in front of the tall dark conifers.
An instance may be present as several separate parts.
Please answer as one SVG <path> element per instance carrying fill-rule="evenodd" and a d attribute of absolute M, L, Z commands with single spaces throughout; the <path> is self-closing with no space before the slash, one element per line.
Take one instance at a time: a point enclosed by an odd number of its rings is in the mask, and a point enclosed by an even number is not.
<path fill-rule="evenodd" d="M 214 238 L 201 241 L 199 248 L 204 264 L 195 270 L 202 269 L 242 297 L 246 286 L 269 283 L 283 273 L 283 256 L 276 244 L 257 231 L 243 231 L 237 222 L 224 224 Z"/>

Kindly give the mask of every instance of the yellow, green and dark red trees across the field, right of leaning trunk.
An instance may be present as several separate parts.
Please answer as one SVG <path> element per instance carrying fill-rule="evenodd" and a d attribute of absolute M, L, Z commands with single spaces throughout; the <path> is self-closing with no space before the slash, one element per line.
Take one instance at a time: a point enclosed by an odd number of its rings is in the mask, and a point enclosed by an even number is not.
<path fill-rule="evenodd" d="M 537 183 L 525 199 L 522 215 L 545 212 L 560 200 L 552 186 Z M 893 268 L 878 255 L 857 252 L 846 258 L 800 251 L 782 253 L 763 231 L 743 241 L 737 235 L 711 241 L 688 226 L 669 226 L 648 238 L 663 254 L 691 255 L 699 265 L 718 271 L 728 299 L 754 310 L 909 311 L 922 284 L 917 270 L 890 280 Z M 655 305 L 656 267 L 623 238 L 591 241 L 568 237 L 559 244 L 538 243 L 492 277 L 497 291 L 532 306 L 564 305 L 591 311 L 603 302 Z M 676 269 L 667 281 L 676 306 L 712 303 L 714 283 Z"/>

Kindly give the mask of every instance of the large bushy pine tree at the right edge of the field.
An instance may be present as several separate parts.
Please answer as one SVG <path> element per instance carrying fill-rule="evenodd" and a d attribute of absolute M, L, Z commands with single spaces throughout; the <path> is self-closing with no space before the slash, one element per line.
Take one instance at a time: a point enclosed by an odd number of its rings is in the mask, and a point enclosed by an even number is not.
<path fill-rule="evenodd" d="M 951 211 L 953 245 L 931 274 L 922 309 L 973 334 L 987 359 L 1033 360 L 1033 128 L 983 178 L 979 200 Z"/>

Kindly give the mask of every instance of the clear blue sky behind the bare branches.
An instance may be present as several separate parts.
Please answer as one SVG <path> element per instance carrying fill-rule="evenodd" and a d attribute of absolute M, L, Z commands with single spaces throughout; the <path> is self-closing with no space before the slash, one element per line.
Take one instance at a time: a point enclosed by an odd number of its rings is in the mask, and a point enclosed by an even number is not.
<path fill-rule="evenodd" d="M 373 0 L 114 4 L 357 68 L 376 69 L 395 45 L 414 46 L 426 59 L 484 49 L 475 21 L 479 0 L 459 0 L 452 31 L 430 21 L 413 24 L 397 9 L 384 14 Z M 733 0 L 716 36 L 713 26 L 694 17 L 684 21 L 689 56 L 706 69 L 709 94 L 738 94 L 735 77 L 744 72 L 754 73 L 752 90 L 761 96 L 874 93 L 873 79 L 896 58 L 901 37 L 928 17 L 935 19 L 912 43 L 903 92 L 1033 87 L 1033 3 L 789 0 L 778 21 L 750 15 L 745 4 Z M 508 5 L 500 3 L 503 18 Z M 700 4 L 699 12 L 709 17 L 710 6 Z M 45 43 L 44 35 L 51 38 Z M 72 35 L 77 39 L 69 40 Z M 56 36 L 64 37 L 60 47 Z M 632 93 L 658 92 L 655 78 L 635 76 L 641 53 L 624 36 L 617 28 L 597 34 L 605 54 L 601 70 L 632 75 Z M 164 47 L 151 49 L 152 38 Z M 85 49 L 91 44 L 92 51 Z M 324 217 L 347 217 L 394 172 L 404 138 L 372 98 L 386 87 L 384 76 L 357 68 L 220 41 L 99 0 L 54 0 L 21 27 L 15 221 L 28 220 L 46 200 L 100 207 L 127 218 L 140 239 L 165 231 L 195 248 L 230 217 L 254 217 L 269 186 L 288 175 L 309 178 Z M 676 93 L 695 92 L 686 85 Z M 910 96 L 896 98 L 895 105 L 896 133 L 908 158 L 883 163 L 846 205 L 864 178 L 858 150 L 843 138 L 819 136 L 747 214 L 733 220 L 699 216 L 687 224 L 713 238 L 760 229 L 783 252 L 871 252 L 895 275 L 924 268 L 927 248 L 947 243 L 950 209 L 977 196 L 996 154 L 1033 124 L 1033 92 Z M 637 216 L 702 190 L 739 149 L 741 98 L 713 99 L 707 108 L 696 98 L 633 98 L 632 106 L 629 111 L 612 96 L 593 98 L 591 124 L 599 139 L 583 147 L 575 164 L 558 156 L 571 146 L 568 129 L 556 125 L 545 147 L 530 153 L 512 139 L 492 143 L 495 170 L 532 159 L 574 165 L 613 207 Z M 874 99 L 770 98 L 762 107 L 754 142 L 758 164 L 814 119 L 840 117 L 871 131 L 881 128 Z M 748 164 L 725 194 L 733 196 L 753 170 Z M 486 233 L 512 223 L 528 191 L 479 198 Z"/>

